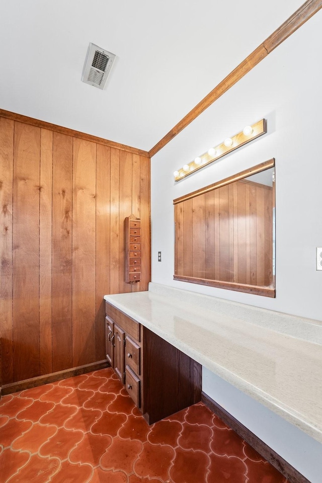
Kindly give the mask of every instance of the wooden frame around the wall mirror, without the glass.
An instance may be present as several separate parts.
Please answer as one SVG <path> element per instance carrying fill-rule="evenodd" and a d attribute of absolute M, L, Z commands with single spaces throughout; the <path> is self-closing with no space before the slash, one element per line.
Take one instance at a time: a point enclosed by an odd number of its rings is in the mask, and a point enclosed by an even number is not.
<path fill-rule="evenodd" d="M 177 246 L 177 231 L 176 231 L 176 226 L 177 226 L 177 216 L 176 216 L 176 205 L 179 203 L 195 198 L 198 195 L 202 195 L 205 193 L 208 193 L 209 191 L 215 190 L 217 188 L 220 188 L 222 186 L 228 185 L 230 183 L 233 183 L 234 181 L 239 181 L 243 180 L 244 178 L 248 178 L 249 176 L 255 175 L 256 173 L 260 173 L 261 171 L 266 171 L 270 168 L 275 168 L 275 158 L 269 159 L 268 161 L 265 161 L 264 163 L 260 163 L 259 165 L 254 166 L 253 168 L 250 168 L 248 170 L 242 171 L 240 173 L 237 173 L 233 176 L 230 176 L 229 178 L 225 178 L 221 181 L 218 181 L 216 183 L 213 183 L 211 185 L 208 185 L 204 188 L 201 188 L 197 191 L 193 191 L 192 193 L 189 193 L 187 195 L 181 196 L 180 198 L 176 198 L 173 200 L 173 204 L 175 207 L 175 274 L 174 274 L 174 280 L 180 280 L 182 282 L 190 282 L 190 283 L 197 283 L 201 285 L 208 285 L 211 287 L 218 287 L 218 288 L 225 288 L 227 290 L 236 290 L 239 292 L 246 292 L 246 293 L 253 293 L 256 295 L 263 295 L 266 297 L 275 297 L 276 296 L 276 290 L 275 290 L 275 250 L 274 250 L 274 244 L 275 244 L 275 239 L 274 239 L 274 221 L 273 220 L 273 226 L 272 226 L 272 231 L 273 231 L 273 247 L 272 247 L 272 283 L 269 286 L 265 285 L 252 285 L 252 284 L 247 284 L 247 283 L 238 283 L 238 282 L 226 282 L 222 280 L 211 280 L 211 279 L 205 279 L 205 278 L 197 278 L 197 277 L 191 277 L 191 276 L 185 276 L 185 275 L 178 275 L 178 246 Z M 273 207 L 275 207 L 275 182 L 273 182 Z"/>

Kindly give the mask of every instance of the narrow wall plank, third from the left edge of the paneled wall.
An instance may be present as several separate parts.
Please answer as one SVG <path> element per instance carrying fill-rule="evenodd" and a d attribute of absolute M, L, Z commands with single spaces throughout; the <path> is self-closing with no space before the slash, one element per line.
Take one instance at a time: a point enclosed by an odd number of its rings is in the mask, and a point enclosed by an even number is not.
<path fill-rule="evenodd" d="M 53 133 L 41 129 L 39 210 L 39 341 L 40 374 L 52 372 L 51 226 Z"/>

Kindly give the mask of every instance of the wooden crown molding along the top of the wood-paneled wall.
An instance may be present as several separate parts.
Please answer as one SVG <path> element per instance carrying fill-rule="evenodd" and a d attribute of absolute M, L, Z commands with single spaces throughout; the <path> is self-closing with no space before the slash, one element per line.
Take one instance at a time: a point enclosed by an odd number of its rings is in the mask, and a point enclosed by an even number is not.
<path fill-rule="evenodd" d="M 57 124 L 51 124 L 50 122 L 40 121 L 39 119 L 23 116 L 22 114 L 17 114 L 11 111 L 5 111 L 4 109 L 0 109 L 0 117 L 12 119 L 13 121 L 24 122 L 25 124 L 31 124 L 32 126 L 41 127 L 43 129 L 49 129 L 51 131 L 60 132 L 61 134 L 67 134 L 67 136 L 73 136 L 80 139 L 85 139 L 86 141 L 97 142 L 98 144 L 114 147 L 115 149 L 120 149 L 121 151 L 132 152 L 133 154 L 139 154 L 140 156 L 149 157 L 149 153 L 147 151 L 143 151 L 142 149 L 137 149 L 135 147 L 126 146 L 125 144 L 109 141 L 108 139 L 104 139 L 103 137 L 93 136 L 92 134 L 86 134 L 84 132 L 75 131 L 73 129 L 69 129 L 68 127 L 62 127 L 62 126 L 58 126 Z"/>

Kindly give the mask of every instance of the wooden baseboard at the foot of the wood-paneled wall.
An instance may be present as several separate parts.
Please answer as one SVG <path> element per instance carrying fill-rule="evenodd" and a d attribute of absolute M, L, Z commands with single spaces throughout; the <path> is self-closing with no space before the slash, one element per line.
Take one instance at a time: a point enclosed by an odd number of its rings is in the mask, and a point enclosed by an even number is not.
<path fill-rule="evenodd" d="M 71 369 L 65 369 L 63 371 L 52 372 L 44 376 L 33 377 L 32 379 L 25 379 L 19 382 L 12 382 L 10 384 L 4 384 L 2 386 L 1 394 L 11 394 L 12 392 L 23 391 L 30 389 L 31 387 L 41 386 L 42 384 L 48 384 L 49 382 L 60 381 L 61 379 L 67 379 L 67 377 L 78 376 L 79 374 L 86 374 L 87 372 L 97 371 L 104 369 L 110 364 L 104 360 L 99 362 L 92 362 L 84 366 L 72 367 Z"/>

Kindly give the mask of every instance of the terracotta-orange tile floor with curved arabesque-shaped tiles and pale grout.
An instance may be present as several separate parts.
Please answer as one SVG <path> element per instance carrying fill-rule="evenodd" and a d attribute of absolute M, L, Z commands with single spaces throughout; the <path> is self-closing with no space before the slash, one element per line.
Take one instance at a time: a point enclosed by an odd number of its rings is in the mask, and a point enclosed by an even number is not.
<path fill-rule="evenodd" d="M 1 483 L 287 483 L 202 403 L 148 426 L 112 369 L 3 396 Z"/>

